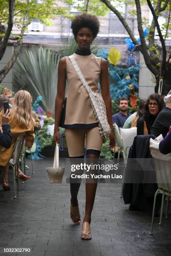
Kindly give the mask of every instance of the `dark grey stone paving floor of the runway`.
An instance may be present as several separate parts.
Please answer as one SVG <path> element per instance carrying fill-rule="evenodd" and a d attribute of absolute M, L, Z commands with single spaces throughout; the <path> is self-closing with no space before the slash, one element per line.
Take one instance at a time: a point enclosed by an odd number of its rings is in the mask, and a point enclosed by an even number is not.
<path fill-rule="evenodd" d="M 30 160 L 27 161 L 30 166 Z M 13 199 L 13 189 L 0 191 L 0 255 L 10 256 L 168 256 L 171 255 L 171 212 L 169 218 L 129 211 L 120 198 L 121 184 L 98 184 L 92 212 L 92 240 L 80 239 L 81 226 L 70 219 L 69 184 L 50 184 L 46 167 L 52 159 L 34 160 L 35 174 Z M 12 175 L 9 175 L 10 179 Z M 2 177 L 0 177 L 2 178 Z M 10 181 L 12 185 L 12 182 Z M 12 187 L 12 186 L 11 186 Z M 85 188 L 79 191 L 81 217 Z M 30 252 L 4 253 L 4 248 L 29 248 Z"/>

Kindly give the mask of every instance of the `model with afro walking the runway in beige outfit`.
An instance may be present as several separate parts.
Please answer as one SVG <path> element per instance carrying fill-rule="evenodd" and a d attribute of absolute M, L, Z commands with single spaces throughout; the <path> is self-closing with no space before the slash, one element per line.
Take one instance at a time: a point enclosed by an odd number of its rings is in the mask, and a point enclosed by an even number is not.
<path fill-rule="evenodd" d="M 111 127 L 110 145 L 108 147 L 112 148 L 115 145 L 115 139 L 112 126 L 107 61 L 94 56 L 90 51 L 92 41 L 99 32 L 99 26 L 97 17 L 93 15 L 82 13 L 75 16 L 71 23 L 74 38 L 78 44 L 74 58 L 92 91 L 98 92 L 97 83 L 100 78 L 102 97 L 105 101 L 108 123 Z M 82 85 L 69 57 L 64 57 L 59 61 L 58 74 L 54 141 L 59 143 L 59 123 L 64 102 L 63 127 L 65 128 L 69 156 L 71 158 L 84 157 L 84 141 L 86 137 L 87 158 L 98 159 L 102 148 L 102 137 L 100 136 L 97 119 L 93 113 L 89 94 Z M 64 101 L 66 79 L 68 89 Z M 77 200 L 79 186 L 80 183 L 70 183 L 71 219 L 77 224 L 81 222 Z M 92 238 L 90 222 L 96 188 L 97 183 L 86 183 L 86 206 L 81 235 L 81 238 L 86 240 Z"/>

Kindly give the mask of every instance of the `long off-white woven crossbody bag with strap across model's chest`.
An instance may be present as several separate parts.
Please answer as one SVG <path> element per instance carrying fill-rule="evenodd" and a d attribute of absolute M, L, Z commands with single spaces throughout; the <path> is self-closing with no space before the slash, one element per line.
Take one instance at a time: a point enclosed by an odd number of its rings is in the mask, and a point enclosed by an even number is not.
<path fill-rule="evenodd" d="M 103 143 L 105 143 L 108 137 L 110 136 L 110 125 L 107 120 L 105 102 L 100 93 L 93 92 L 90 89 L 81 70 L 79 69 L 77 61 L 74 59 L 74 56 L 73 55 L 69 56 L 69 59 L 71 60 L 74 66 L 74 69 L 77 72 L 77 75 L 79 76 L 79 79 L 81 80 L 82 84 L 84 85 L 85 89 L 89 94 L 89 99 L 93 108 L 93 112 L 98 121 L 100 135 L 102 136 Z"/>

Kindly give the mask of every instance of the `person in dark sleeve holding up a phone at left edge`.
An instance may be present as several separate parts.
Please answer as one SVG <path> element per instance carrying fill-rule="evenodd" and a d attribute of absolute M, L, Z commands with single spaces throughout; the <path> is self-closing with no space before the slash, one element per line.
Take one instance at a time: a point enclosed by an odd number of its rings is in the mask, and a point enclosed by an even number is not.
<path fill-rule="evenodd" d="M 10 124 L 8 123 L 10 112 L 8 112 L 7 110 L 6 113 L 4 113 L 4 109 L 3 109 L 4 101 L 9 102 L 8 97 L 5 97 L 3 95 L 0 96 L 0 112 L 3 111 L 2 123 L 0 123 L 0 147 L 10 148 L 11 141 L 12 141 L 11 134 L 10 134 Z"/>

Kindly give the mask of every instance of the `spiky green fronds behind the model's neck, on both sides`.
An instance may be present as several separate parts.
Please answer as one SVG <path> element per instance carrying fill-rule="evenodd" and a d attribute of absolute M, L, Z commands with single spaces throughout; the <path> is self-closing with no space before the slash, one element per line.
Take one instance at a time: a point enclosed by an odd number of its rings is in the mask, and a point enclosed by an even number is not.
<path fill-rule="evenodd" d="M 98 45 L 92 44 L 90 47 L 93 54 L 97 54 Z M 64 41 L 64 44 L 60 47 L 59 54 L 61 57 L 70 56 L 77 50 L 77 42 L 73 37 L 69 40 Z"/>

